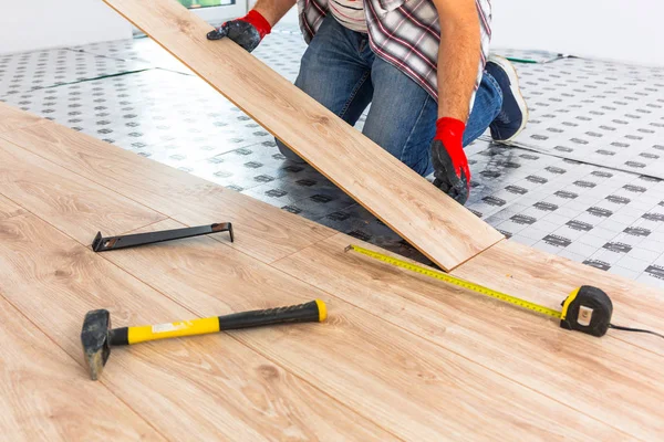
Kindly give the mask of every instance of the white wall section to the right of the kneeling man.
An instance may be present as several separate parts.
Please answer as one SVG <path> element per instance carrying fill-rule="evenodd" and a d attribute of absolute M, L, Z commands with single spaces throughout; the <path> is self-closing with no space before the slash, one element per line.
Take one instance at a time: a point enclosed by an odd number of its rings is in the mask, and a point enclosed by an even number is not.
<path fill-rule="evenodd" d="M 664 66 L 662 0 L 492 0 L 495 48 Z"/>

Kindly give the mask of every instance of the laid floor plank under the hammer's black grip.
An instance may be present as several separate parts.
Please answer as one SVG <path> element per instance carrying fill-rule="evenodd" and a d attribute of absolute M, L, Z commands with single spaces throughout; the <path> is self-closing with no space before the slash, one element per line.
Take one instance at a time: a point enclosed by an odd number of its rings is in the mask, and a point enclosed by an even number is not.
<path fill-rule="evenodd" d="M 138 231 L 177 227 L 167 220 Z M 559 401 L 209 238 L 104 256 L 200 315 L 325 301 L 326 323 L 231 335 L 402 439 L 625 439 Z M 332 269 L 326 275 L 343 280 Z"/>

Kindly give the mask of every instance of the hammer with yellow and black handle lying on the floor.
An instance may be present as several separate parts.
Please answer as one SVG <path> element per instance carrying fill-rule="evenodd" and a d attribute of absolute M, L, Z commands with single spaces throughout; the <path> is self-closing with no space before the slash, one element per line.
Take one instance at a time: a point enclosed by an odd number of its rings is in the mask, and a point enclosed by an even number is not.
<path fill-rule="evenodd" d="M 111 346 L 125 346 L 148 340 L 205 335 L 274 324 L 323 322 L 326 317 L 328 308 L 325 304 L 320 299 L 315 299 L 289 307 L 241 312 L 179 323 L 111 328 L 111 314 L 108 311 L 96 309 L 85 314 L 81 343 L 90 378 L 97 380 L 108 360 L 108 356 L 111 356 Z"/>

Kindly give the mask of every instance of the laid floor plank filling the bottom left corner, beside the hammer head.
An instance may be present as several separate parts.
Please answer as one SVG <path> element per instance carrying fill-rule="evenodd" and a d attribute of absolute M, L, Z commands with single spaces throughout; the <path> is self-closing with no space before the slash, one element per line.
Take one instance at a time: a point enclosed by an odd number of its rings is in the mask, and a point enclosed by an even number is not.
<path fill-rule="evenodd" d="M 0 341 L 2 440 L 164 440 L 2 296 Z"/>

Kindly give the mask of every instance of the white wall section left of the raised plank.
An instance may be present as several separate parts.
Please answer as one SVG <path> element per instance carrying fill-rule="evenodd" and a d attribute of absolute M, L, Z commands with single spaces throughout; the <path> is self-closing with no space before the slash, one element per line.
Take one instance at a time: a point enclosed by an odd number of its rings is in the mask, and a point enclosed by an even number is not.
<path fill-rule="evenodd" d="M 0 53 L 131 36 L 132 25 L 101 0 L 0 0 Z"/>

